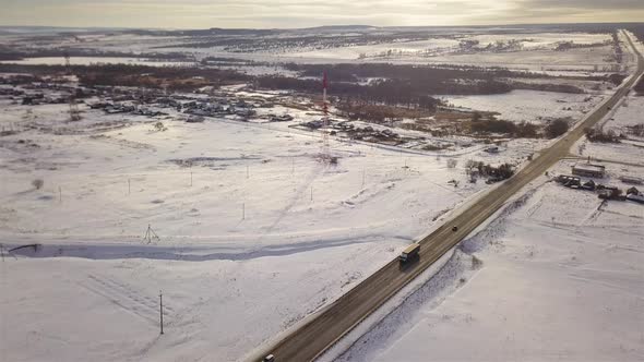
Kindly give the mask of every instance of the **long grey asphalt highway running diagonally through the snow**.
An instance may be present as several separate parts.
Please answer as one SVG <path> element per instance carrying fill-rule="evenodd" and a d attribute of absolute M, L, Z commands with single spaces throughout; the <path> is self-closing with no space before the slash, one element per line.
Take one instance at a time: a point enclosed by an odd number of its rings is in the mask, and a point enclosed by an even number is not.
<path fill-rule="evenodd" d="M 634 48 L 634 45 L 631 43 Z M 323 310 L 317 312 L 296 330 L 290 331 L 273 346 L 255 351 L 250 361 L 261 361 L 272 353 L 276 362 L 312 361 L 337 340 L 380 307 L 397 291 L 427 269 L 443 254 L 466 238 L 479 225 L 499 210 L 503 204 L 523 186 L 544 174 L 559 159 L 565 157 L 571 146 L 584 134 L 584 129 L 599 122 L 632 88 L 644 73 L 644 59 L 637 57 L 635 76 L 618 88 L 615 95 L 594 112 L 586 114 L 580 125 L 565 136 L 541 150 L 539 156 L 527 164 L 514 177 L 479 198 L 479 201 L 454 216 L 439 229 L 420 241 L 418 262 L 401 267 L 397 258 L 365 279 L 347 293 Z M 457 226 L 456 232 L 452 227 Z"/>

